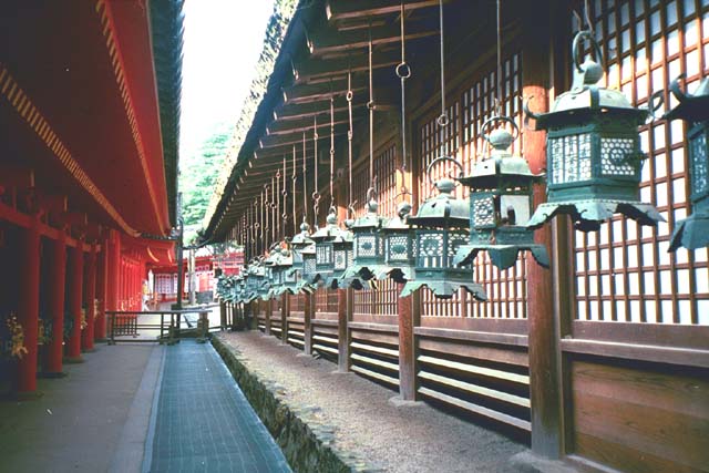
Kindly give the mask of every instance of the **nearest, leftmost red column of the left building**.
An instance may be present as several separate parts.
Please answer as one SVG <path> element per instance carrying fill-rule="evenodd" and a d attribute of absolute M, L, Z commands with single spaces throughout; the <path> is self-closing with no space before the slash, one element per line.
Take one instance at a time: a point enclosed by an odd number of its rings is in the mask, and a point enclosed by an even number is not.
<path fill-rule="evenodd" d="M 37 338 L 40 317 L 40 233 L 39 216 L 23 229 L 20 241 L 20 285 L 18 294 L 18 321 L 24 329 L 24 347 L 28 352 L 18 362 L 18 393 L 37 390 Z"/>

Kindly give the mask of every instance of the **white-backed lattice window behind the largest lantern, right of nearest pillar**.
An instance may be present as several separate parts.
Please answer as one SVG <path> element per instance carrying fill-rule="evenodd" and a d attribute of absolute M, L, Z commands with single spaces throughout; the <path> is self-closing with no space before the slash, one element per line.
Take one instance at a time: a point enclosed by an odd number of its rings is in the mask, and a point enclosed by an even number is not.
<path fill-rule="evenodd" d="M 682 72 L 690 91 L 708 72 L 705 0 L 595 1 L 590 18 L 608 71 L 602 84 L 620 89 L 636 106 Z M 685 124 L 656 121 L 641 128 L 640 142 L 649 157 L 640 198 L 667 223 L 638 227 L 617 216 L 598 233 L 575 234 L 576 318 L 709 325 L 707 248 L 667 253 L 671 229 L 689 213 Z"/>

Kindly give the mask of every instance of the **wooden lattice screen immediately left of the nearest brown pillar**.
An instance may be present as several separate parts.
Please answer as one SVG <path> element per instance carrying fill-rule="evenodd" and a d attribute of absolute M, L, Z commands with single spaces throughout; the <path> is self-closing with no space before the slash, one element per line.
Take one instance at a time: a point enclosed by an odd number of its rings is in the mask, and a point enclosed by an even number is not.
<path fill-rule="evenodd" d="M 424 175 L 428 165 L 435 157 L 448 153 L 454 156 L 469 173 L 472 164 L 485 153 L 481 127 L 492 116 L 496 97 L 496 71 L 494 65 L 481 74 L 473 75 L 459 94 L 450 96 L 448 113 L 451 124 L 441 131 L 436 124 L 438 113 L 418 127 L 420 200 L 432 195 L 432 186 Z M 507 55 L 502 66 L 502 112 L 512 117 L 522 130 L 522 55 L 518 52 Z M 524 133 L 522 133 L 522 137 Z M 511 151 L 520 153 L 522 138 Z M 442 164 L 431 169 L 436 179 L 453 173 L 453 166 Z M 467 189 L 456 189 L 458 197 L 467 197 Z M 491 265 L 486 254 L 475 258 L 475 281 L 483 285 L 489 297 L 487 302 L 474 302 L 467 295 L 458 295 L 450 300 L 439 300 L 427 289 L 422 290 L 422 315 L 441 317 L 481 317 L 481 318 L 526 318 L 526 273 L 525 260 L 521 257 L 513 268 L 497 270 Z"/>

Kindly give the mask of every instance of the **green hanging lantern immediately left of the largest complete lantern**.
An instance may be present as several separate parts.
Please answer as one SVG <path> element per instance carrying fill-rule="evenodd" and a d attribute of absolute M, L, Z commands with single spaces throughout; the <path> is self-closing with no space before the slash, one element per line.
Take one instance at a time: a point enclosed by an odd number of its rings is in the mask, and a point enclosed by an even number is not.
<path fill-rule="evenodd" d="M 515 135 L 504 127 L 485 130 L 494 123 L 510 123 Z M 487 251 L 499 269 L 514 266 L 517 255 L 528 250 L 542 266 L 549 266 L 544 245 L 534 243 L 534 230 L 526 227 L 533 206 L 533 185 L 541 176 L 532 174 L 522 156 L 507 152 L 520 135 L 516 123 L 507 116 L 493 116 L 481 128 L 492 146 L 491 155 L 475 163 L 469 176 L 459 181 L 470 187 L 470 243 L 461 246 L 453 264 L 471 264 L 479 251 Z"/>

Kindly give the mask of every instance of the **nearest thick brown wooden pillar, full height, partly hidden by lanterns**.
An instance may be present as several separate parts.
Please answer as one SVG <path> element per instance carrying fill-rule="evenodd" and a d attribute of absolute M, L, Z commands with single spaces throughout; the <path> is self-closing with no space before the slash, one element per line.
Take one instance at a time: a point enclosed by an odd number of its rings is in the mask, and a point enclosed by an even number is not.
<path fill-rule="evenodd" d="M 527 4 L 528 3 L 528 4 Z M 548 110 L 548 91 L 552 88 L 551 64 L 554 63 L 554 51 L 551 38 L 552 18 L 558 11 L 557 0 L 545 2 L 527 2 L 523 8 L 523 54 L 522 68 L 523 95 L 534 96 L 533 110 L 542 113 Z M 540 4 L 541 3 L 541 4 Z M 544 4 L 546 3 L 546 7 Z M 547 34 L 540 34 L 546 31 Z M 533 173 L 541 173 L 546 167 L 546 134 L 526 132 L 523 153 Z M 535 186 L 534 204 L 546 200 L 544 186 Z M 558 225 L 557 217 L 553 225 Z M 565 220 L 561 220 L 564 222 Z M 535 241 L 552 249 L 552 225 L 545 225 L 535 233 Z M 568 260 L 559 260 L 557 245 L 549 253 L 552 266 L 568 266 Z M 564 281 L 562 281 L 564 282 Z M 530 350 L 530 400 L 532 409 L 532 451 L 549 459 L 559 459 L 564 454 L 564 419 L 562 409 L 562 372 L 559 363 L 559 326 L 558 315 L 554 308 L 554 291 L 573 290 L 566 285 L 554 281 L 552 271 L 542 268 L 527 257 L 528 290 L 528 350 Z"/>

